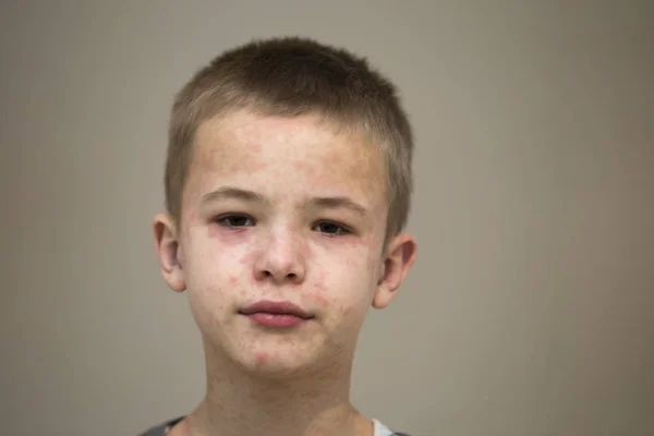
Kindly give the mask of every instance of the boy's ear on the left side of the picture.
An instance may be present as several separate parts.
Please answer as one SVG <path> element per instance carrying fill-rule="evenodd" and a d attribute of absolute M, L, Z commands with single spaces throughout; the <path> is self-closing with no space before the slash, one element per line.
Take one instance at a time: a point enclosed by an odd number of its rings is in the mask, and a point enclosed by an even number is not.
<path fill-rule="evenodd" d="M 186 289 L 186 281 L 177 225 L 169 215 L 160 214 L 155 217 L 153 229 L 161 276 L 173 291 L 183 292 Z"/>

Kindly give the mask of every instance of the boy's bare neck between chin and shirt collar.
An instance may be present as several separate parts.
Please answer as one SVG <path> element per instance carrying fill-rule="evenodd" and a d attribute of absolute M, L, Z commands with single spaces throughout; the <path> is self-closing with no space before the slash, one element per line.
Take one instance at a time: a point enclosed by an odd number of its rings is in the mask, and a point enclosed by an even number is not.
<path fill-rule="evenodd" d="M 351 362 L 295 376 L 238 367 L 205 343 L 207 391 L 185 420 L 189 436 L 355 436 L 372 424 L 350 403 Z"/>

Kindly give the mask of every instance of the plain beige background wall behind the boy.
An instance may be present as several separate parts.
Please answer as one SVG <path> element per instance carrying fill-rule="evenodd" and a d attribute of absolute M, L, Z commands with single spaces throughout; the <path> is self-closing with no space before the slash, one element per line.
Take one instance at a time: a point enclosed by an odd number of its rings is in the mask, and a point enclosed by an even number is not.
<path fill-rule="evenodd" d="M 220 50 L 301 34 L 367 55 L 417 136 L 419 262 L 364 329 L 361 409 L 414 436 L 654 434 L 652 2 L 472 3 L 2 2 L 0 433 L 195 405 L 150 237 L 168 108 Z"/>

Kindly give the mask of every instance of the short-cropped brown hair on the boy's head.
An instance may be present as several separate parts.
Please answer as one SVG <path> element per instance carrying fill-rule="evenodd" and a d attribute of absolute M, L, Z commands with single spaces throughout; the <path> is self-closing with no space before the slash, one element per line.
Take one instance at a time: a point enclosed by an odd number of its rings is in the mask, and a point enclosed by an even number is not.
<path fill-rule="evenodd" d="M 378 143 L 386 164 L 387 237 L 402 231 L 413 185 L 413 135 L 395 85 L 365 58 L 300 37 L 254 40 L 225 51 L 178 93 L 165 174 L 166 207 L 178 225 L 196 130 L 240 108 L 266 116 L 319 114 Z"/>

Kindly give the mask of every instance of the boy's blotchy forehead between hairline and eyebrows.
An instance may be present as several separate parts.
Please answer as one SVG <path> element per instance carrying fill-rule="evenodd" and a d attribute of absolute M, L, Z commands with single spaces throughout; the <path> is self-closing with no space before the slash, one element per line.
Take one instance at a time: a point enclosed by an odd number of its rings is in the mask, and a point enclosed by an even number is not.
<path fill-rule="evenodd" d="M 191 197 L 223 183 L 271 197 L 349 195 L 373 209 L 386 203 L 385 180 L 380 147 L 363 135 L 317 116 L 242 110 L 199 126 L 187 187 Z"/>

